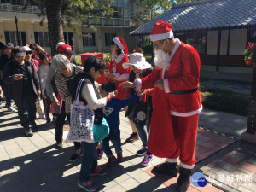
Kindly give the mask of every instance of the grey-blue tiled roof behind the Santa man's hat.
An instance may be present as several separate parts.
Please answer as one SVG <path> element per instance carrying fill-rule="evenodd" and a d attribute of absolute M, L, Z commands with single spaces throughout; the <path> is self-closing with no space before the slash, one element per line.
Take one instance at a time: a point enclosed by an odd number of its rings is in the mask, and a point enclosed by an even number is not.
<path fill-rule="evenodd" d="M 150 34 L 157 20 L 171 23 L 173 31 L 256 25 L 255 13 L 255 0 L 205 0 L 180 4 L 137 28 L 131 35 Z"/>

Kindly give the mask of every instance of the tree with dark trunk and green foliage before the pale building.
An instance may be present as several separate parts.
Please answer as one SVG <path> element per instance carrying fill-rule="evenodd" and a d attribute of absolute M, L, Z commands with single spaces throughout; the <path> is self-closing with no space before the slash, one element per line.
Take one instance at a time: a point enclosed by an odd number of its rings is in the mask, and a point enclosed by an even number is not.
<path fill-rule="evenodd" d="M 73 28 L 73 32 L 79 32 L 78 26 L 88 26 L 91 30 L 91 21 L 99 20 L 101 17 L 113 17 L 113 9 L 110 4 L 113 0 L 28 0 L 30 4 L 38 5 L 43 20 L 48 20 L 49 46 L 52 55 L 55 54 L 55 45 L 62 41 L 63 26 Z M 43 23 L 43 20 L 41 23 Z M 80 32 L 81 33 L 81 32 Z"/>

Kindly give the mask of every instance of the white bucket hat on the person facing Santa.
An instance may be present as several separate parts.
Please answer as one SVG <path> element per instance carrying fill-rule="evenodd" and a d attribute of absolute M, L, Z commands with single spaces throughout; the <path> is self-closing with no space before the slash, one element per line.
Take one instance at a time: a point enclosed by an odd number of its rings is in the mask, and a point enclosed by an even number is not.
<path fill-rule="evenodd" d="M 131 66 L 137 67 L 138 69 L 151 68 L 151 65 L 146 61 L 145 57 L 141 53 L 134 53 L 130 55 L 130 61 L 123 63 L 123 68 L 129 68 Z"/>

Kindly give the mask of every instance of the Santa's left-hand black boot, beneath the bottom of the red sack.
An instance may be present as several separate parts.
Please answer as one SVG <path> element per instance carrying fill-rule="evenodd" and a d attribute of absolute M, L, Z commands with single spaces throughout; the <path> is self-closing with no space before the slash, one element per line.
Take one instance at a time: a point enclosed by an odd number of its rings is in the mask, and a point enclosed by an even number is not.
<path fill-rule="evenodd" d="M 171 177 L 177 176 L 177 163 L 165 162 L 160 165 L 154 166 L 152 172 L 168 175 Z"/>

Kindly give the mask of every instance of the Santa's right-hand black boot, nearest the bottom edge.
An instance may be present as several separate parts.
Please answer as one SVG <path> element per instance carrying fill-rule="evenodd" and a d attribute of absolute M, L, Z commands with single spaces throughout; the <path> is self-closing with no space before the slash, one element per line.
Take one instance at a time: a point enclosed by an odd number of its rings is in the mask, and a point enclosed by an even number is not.
<path fill-rule="evenodd" d="M 185 192 L 189 189 L 191 175 L 192 169 L 185 169 L 182 166 L 179 167 L 179 177 L 177 178 L 176 184 L 177 192 Z"/>

